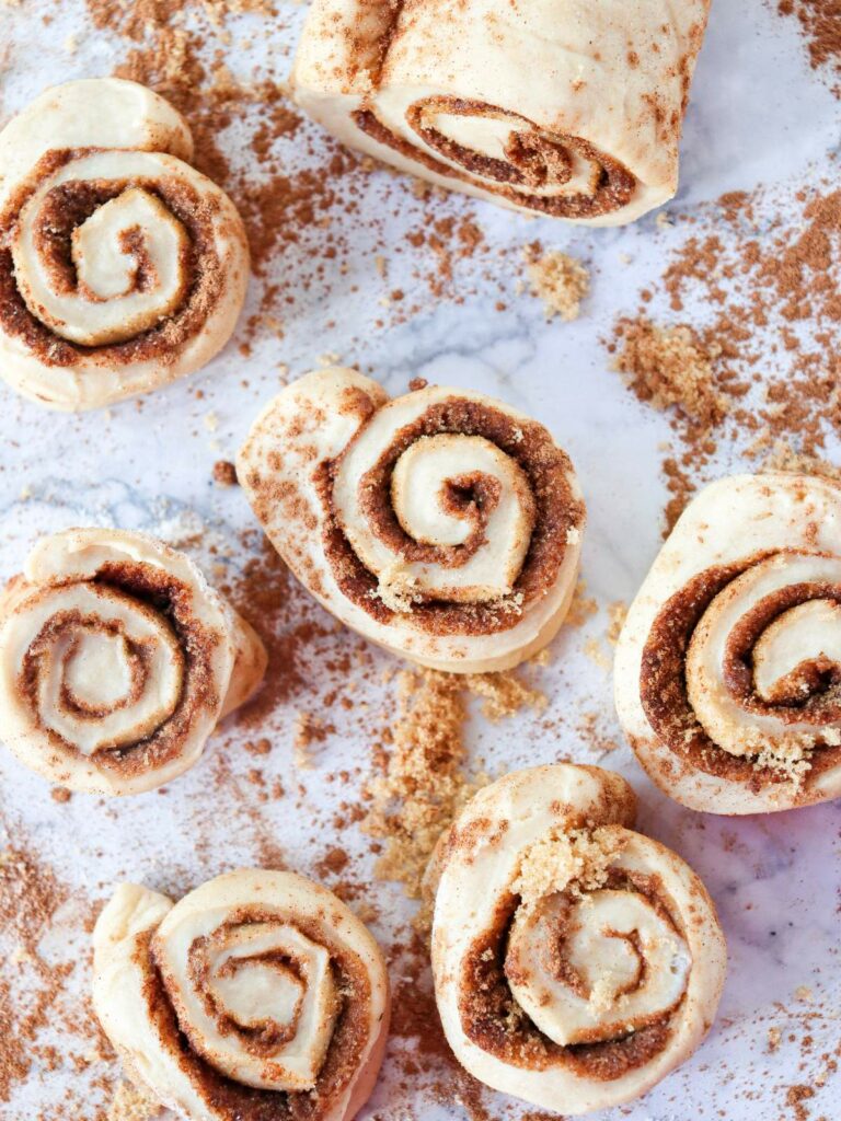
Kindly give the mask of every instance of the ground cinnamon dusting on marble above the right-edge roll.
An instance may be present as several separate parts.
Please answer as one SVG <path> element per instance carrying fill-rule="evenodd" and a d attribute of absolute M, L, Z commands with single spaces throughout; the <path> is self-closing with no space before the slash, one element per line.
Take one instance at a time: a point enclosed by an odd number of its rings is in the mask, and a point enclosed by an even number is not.
<path fill-rule="evenodd" d="M 841 438 L 841 192 L 728 194 L 678 230 L 608 343 L 629 389 L 669 421 L 667 529 L 699 485 L 745 460 L 814 466 Z"/>

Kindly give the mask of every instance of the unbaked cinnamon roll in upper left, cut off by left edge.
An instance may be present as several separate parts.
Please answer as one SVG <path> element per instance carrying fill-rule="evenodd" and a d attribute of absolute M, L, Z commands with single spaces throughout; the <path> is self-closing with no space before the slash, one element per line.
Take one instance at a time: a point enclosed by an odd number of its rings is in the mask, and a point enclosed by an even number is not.
<path fill-rule="evenodd" d="M 242 221 L 135 82 L 47 90 L 0 132 L 0 376 L 90 409 L 205 365 L 248 284 Z"/>

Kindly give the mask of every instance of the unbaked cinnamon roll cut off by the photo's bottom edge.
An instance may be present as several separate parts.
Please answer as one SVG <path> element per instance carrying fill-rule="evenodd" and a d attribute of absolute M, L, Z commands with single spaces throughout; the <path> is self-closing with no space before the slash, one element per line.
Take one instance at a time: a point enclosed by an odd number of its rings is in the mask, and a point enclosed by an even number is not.
<path fill-rule="evenodd" d="M 301 876 L 230 872 L 175 905 L 123 883 L 96 921 L 93 970 L 127 1074 L 194 1121 L 350 1121 L 373 1090 L 382 954 Z"/>

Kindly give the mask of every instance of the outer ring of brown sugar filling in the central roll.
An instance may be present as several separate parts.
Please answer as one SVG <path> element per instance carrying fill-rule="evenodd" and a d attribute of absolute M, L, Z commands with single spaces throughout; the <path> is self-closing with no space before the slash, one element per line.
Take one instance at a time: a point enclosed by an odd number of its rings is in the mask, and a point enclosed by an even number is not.
<path fill-rule="evenodd" d="M 516 603 L 454 604 L 429 599 L 413 605 L 412 622 L 432 634 L 489 634 L 509 630 L 519 622 L 523 609 L 552 587 L 566 554 L 567 534 L 583 519 L 583 503 L 573 495 L 570 485 L 572 464 L 549 433 L 535 421 L 514 418 L 492 406 L 460 397 L 431 405 L 395 434 L 359 483 L 360 506 L 375 534 L 407 559 L 447 563 L 447 550 L 418 545 L 406 535 L 390 501 L 391 475 L 399 457 L 417 439 L 441 434 L 483 436 L 515 460 L 525 472 L 535 500 L 535 526 L 514 585 Z M 353 552 L 335 516 L 332 489 L 340 462 L 323 469 L 317 476 L 327 513 L 325 554 L 343 594 L 378 622 L 388 623 L 395 613 L 379 599 L 377 576 Z"/>

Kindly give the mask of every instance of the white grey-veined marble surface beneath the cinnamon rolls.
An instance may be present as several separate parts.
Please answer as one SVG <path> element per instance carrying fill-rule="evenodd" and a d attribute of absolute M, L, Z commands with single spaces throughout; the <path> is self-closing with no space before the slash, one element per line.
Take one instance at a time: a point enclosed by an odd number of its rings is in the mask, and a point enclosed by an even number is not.
<path fill-rule="evenodd" d="M 641 827 L 674 847 L 704 879 L 730 948 L 719 1019 L 703 1048 L 643 1101 L 606 1113 L 600 1121 L 795 1118 L 796 1093 L 793 1096 L 791 1087 L 815 1078 L 823 1084 L 803 1102 L 807 1113 L 801 1118 L 841 1115 L 841 1078 L 822 1058 L 837 1051 L 841 1037 L 841 809 L 825 805 L 736 821 L 694 814 L 664 798 L 621 743 L 606 639 L 608 606 L 630 601 L 658 547 L 665 501 L 658 469 L 668 426 L 611 372 L 603 340 L 618 315 L 636 309 L 639 289 L 659 275 L 668 253 L 685 239 L 683 216 L 703 213 L 724 191 L 764 183 L 785 193 L 813 182 L 826 152 L 838 146 L 841 103 L 810 71 L 795 21 L 782 19 L 775 8 L 763 0 L 713 4 L 686 120 L 681 192 L 668 207 L 682 219 L 674 225 L 658 224 L 650 215 L 630 229 L 588 232 L 449 200 L 441 204 L 442 213 L 473 217 L 489 244 L 503 252 L 498 259 L 483 257 L 481 267 L 471 260 L 456 262 L 450 294 L 432 299 L 425 274 L 435 269 L 435 259 L 428 251 L 386 250 L 387 277 L 375 267 L 373 257 L 383 253 L 382 233 L 405 248 L 405 234 L 425 213 L 408 184 L 378 172 L 355 182 L 359 212 L 378 215 L 375 226 L 361 220 L 357 224 L 339 210 L 326 214 L 341 225 L 348 243 L 345 267 L 331 275 L 329 284 L 317 275 L 306 238 L 278 250 L 272 269 L 309 282 L 294 312 L 283 316 L 283 337 L 258 332 L 248 356 L 234 342 L 201 376 L 145 399 L 141 408 L 127 402 L 104 413 L 63 416 L 22 401 L 0 385 L 2 576 L 20 568 L 39 534 L 101 524 L 168 537 L 215 565 L 218 578 L 224 572 L 235 580 L 248 558 L 241 534 L 255 522 L 237 489 L 214 487 L 213 463 L 232 458 L 251 419 L 281 381 L 317 365 L 325 352 L 359 363 L 395 392 L 410 377 L 422 376 L 495 393 L 557 434 L 577 466 L 589 503 L 583 575 L 599 610 L 583 627 L 565 628 L 551 665 L 530 671 L 548 697 L 546 713 L 527 712 L 497 725 L 474 713 L 469 729 L 472 761 L 501 772 L 569 756 L 621 771 L 640 795 Z M 44 26 L 40 16 L 47 11 L 54 18 Z M 244 16 L 235 24 L 227 61 L 240 77 L 247 78 L 255 65 L 272 65 L 277 75 L 285 74 L 302 9 L 281 4 L 281 12 L 268 39 L 258 17 Z M 75 38 L 73 52 L 67 49 L 68 36 Z M 249 39 L 250 45 L 243 45 Z M 34 40 L 37 50 L 29 49 Z M 271 48 L 268 62 L 261 55 L 266 41 Z M 0 6 L 0 45 L 3 117 L 46 84 L 109 73 L 127 52 L 124 41 L 93 29 L 81 0 L 49 8 L 41 0 Z M 247 119 L 235 120 L 221 138 L 232 159 L 248 158 L 252 127 Z M 277 142 L 289 174 L 317 165 L 331 150 L 316 130 L 306 135 L 306 146 Z M 591 269 L 592 295 L 579 321 L 547 324 L 539 302 L 519 290 L 523 267 L 512 250 L 535 239 L 580 256 Z M 250 312 L 258 309 L 265 282 L 252 285 Z M 507 304 L 501 312 L 495 309 L 500 286 Z M 405 290 L 407 306 L 419 306 L 408 322 L 396 322 L 382 306 L 386 294 L 397 287 Z M 736 453 L 724 448 L 721 470 L 738 465 Z M 257 537 L 247 545 L 256 549 Z M 119 805 L 81 795 L 59 805 L 41 780 L 8 752 L 0 753 L 6 843 L 27 839 L 71 890 L 40 947 L 47 961 L 76 963 L 62 997 L 65 1012 L 72 1015 L 86 992 L 85 924 L 114 880 L 132 879 L 178 893 L 216 871 L 258 862 L 267 835 L 283 860 L 304 873 L 316 874 L 325 850 L 340 842 L 353 856 L 355 880 L 370 877 L 369 843 L 358 827 L 349 826 L 339 837 L 330 822 L 339 803 L 352 798 L 371 771 L 373 714 L 388 704 L 381 674 L 395 664 L 361 641 L 335 633 L 326 617 L 288 585 L 278 585 L 278 596 L 288 599 L 278 626 L 289 632 L 293 663 L 284 666 L 289 687 L 261 730 L 271 739 L 271 753 L 258 762 L 269 785 L 275 779 L 284 782 L 285 798 L 259 800 L 259 787 L 248 781 L 255 758 L 242 751 L 243 741 L 257 733 L 233 722 L 166 794 Z M 309 646 L 293 641 L 304 623 L 327 633 Z M 593 657 L 595 649 L 601 654 Z M 366 667 L 359 680 L 349 680 L 335 668 L 344 656 Z M 296 770 L 295 716 L 313 711 L 312 683 L 331 680 L 352 694 L 353 707 L 316 745 L 312 767 Z M 593 747 L 593 726 L 599 736 L 619 744 L 603 759 Z M 350 773 L 348 785 L 332 780 L 343 770 Z M 227 789 L 220 795 L 222 779 Z M 196 831 L 201 846 L 194 843 Z M 414 905 L 396 884 L 372 883 L 370 893 L 379 912 L 373 928 L 391 944 Z M 771 1028 L 780 1030 L 773 1051 Z M 410 1048 L 410 1041 L 395 1041 L 362 1117 L 469 1118 L 468 1108 L 458 1102 L 437 1104 L 423 1081 L 408 1096 L 398 1087 L 396 1053 Z M 113 1067 L 99 1059 L 77 1065 L 84 1069 L 64 1062 L 53 1071 L 46 1060 L 36 1060 L 11 1101 L 0 1104 L 0 1114 L 10 1121 L 38 1117 L 39 1110 L 65 1115 L 61 1104 L 72 1093 L 83 1102 L 73 1115 L 78 1121 L 95 1118 L 103 1103 L 96 1080 L 112 1076 Z M 486 1106 L 495 1119 L 516 1121 L 527 1112 L 492 1094 Z"/>

